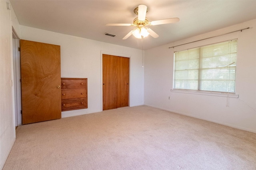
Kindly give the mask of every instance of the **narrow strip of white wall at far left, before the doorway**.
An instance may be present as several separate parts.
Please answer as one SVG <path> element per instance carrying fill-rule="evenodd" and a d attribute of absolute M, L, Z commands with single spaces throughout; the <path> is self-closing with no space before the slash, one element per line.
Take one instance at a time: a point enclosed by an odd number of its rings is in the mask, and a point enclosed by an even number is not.
<path fill-rule="evenodd" d="M 15 141 L 12 22 L 18 20 L 14 20 L 16 16 L 7 9 L 6 2 L 0 0 L 0 169 Z"/>

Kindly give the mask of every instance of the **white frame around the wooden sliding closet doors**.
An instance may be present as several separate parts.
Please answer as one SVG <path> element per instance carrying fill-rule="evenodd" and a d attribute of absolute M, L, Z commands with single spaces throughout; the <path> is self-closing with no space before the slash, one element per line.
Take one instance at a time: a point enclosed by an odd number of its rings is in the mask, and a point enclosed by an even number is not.
<path fill-rule="evenodd" d="M 100 97 L 101 97 L 101 100 L 100 100 L 100 111 L 103 111 L 103 70 L 102 70 L 102 55 L 106 54 L 106 55 L 114 55 L 114 56 L 117 56 L 117 57 L 126 57 L 126 58 L 131 58 L 131 55 L 127 55 L 127 54 L 120 54 L 120 53 L 112 53 L 112 52 L 108 52 L 108 51 L 101 51 L 100 52 L 100 82 L 101 82 L 101 85 L 100 85 L 100 88 L 101 88 L 101 91 L 100 91 Z M 129 94 L 128 94 L 128 106 L 130 106 L 130 71 L 131 71 L 131 60 L 129 59 Z"/>

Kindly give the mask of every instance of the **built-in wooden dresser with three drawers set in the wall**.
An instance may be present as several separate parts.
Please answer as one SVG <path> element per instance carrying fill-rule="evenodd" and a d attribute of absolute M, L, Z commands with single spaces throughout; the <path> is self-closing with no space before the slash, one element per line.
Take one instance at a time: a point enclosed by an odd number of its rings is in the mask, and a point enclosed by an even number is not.
<path fill-rule="evenodd" d="M 87 78 L 61 78 L 61 111 L 86 109 Z"/>

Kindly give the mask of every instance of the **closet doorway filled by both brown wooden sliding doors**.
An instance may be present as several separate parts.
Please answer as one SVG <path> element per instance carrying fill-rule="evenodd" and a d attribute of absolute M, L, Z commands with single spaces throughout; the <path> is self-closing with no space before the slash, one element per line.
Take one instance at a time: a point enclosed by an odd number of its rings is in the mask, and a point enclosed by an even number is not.
<path fill-rule="evenodd" d="M 102 55 L 103 110 L 129 106 L 130 58 Z"/>

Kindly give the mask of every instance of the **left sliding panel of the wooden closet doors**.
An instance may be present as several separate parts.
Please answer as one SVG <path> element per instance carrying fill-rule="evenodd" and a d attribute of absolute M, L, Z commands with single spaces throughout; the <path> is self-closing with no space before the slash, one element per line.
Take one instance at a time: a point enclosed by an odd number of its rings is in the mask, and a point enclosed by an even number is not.
<path fill-rule="evenodd" d="M 117 108 L 117 57 L 102 55 L 103 110 Z"/>

